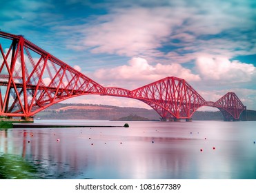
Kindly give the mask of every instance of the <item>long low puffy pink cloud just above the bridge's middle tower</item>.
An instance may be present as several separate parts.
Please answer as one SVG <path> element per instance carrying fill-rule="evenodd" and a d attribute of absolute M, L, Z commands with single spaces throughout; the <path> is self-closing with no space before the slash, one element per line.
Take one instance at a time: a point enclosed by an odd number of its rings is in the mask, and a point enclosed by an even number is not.
<path fill-rule="evenodd" d="M 119 82 L 119 85 L 115 86 L 121 87 L 124 85 L 124 88 L 127 88 L 127 82 L 129 85 L 138 87 L 143 83 L 151 83 L 164 77 L 179 77 L 187 81 L 200 81 L 199 75 L 193 74 L 191 70 L 183 68 L 178 63 L 150 65 L 146 59 L 141 57 L 130 59 L 127 65 L 96 70 L 92 77 L 97 79 L 98 82 L 108 82 L 108 85 Z"/>

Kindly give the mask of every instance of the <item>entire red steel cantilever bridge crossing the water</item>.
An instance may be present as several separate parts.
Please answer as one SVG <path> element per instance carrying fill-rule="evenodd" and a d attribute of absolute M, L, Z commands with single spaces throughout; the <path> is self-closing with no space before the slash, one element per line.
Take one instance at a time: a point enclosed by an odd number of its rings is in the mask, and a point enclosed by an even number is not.
<path fill-rule="evenodd" d="M 239 120 L 246 107 L 233 92 L 206 101 L 184 79 L 166 77 L 135 90 L 105 88 L 22 35 L 0 32 L 0 116 L 23 119 L 71 97 L 121 96 L 143 101 L 163 120 L 190 120 L 201 106 L 218 108 L 226 121 Z"/>

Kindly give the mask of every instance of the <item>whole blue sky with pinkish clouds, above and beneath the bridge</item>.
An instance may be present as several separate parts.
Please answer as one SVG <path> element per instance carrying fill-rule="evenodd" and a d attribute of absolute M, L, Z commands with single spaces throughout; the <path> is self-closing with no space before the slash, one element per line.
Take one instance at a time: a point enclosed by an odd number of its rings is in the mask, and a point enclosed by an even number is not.
<path fill-rule="evenodd" d="M 134 90 L 179 77 L 206 101 L 235 92 L 256 110 L 254 0 L 0 1 L 2 31 L 24 35 L 101 85 Z M 150 108 L 97 95 L 64 103 Z"/>

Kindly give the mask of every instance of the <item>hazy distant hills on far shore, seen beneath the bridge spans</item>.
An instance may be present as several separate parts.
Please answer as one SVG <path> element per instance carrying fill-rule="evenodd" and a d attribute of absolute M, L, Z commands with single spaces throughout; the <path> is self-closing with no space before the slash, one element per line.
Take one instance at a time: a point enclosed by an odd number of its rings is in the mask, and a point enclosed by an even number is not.
<path fill-rule="evenodd" d="M 136 115 L 131 117 L 130 115 Z M 130 116 L 130 117 L 129 117 Z M 90 119 L 90 120 L 119 120 L 119 119 L 148 119 L 159 120 L 155 110 L 145 108 L 123 108 L 112 105 L 57 103 L 36 114 L 40 119 Z M 197 111 L 193 120 L 223 120 L 221 112 Z"/>

